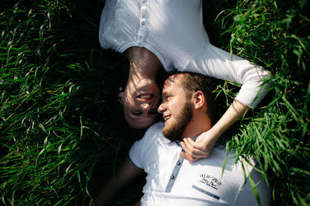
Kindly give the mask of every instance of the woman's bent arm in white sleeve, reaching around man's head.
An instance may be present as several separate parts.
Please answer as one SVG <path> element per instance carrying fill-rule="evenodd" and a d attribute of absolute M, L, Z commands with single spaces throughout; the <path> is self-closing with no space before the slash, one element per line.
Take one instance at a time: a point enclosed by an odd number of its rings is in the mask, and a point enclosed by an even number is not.
<path fill-rule="evenodd" d="M 234 102 L 213 128 L 202 133 L 195 142 L 191 139 L 183 139 L 181 145 L 186 154 L 180 155 L 186 160 L 195 161 L 209 157 L 218 137 L 240 117 L 243 117 L 249 108 L 254 110 L 261 99 L 266 96 L 268 84 L 261 85 L 268 77 L 269 71 L 212 44 L 197 53 L 184 71 L 231 80 L 241 85 Z"/>

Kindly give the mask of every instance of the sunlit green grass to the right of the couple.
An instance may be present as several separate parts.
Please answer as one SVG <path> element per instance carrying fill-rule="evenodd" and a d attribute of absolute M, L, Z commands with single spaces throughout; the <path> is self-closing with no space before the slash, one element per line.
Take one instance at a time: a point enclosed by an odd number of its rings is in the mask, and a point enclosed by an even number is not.
<path fill-rule="evenodd" d="M 237 155 L 250 153 L 259 160 L 275 205 L 309 205 L 307 6 L 307 1 L 240 1 L 218 16 L 223 35 L 231 37 L 227 47 L 272 71 L 270 102 L 245 119 L 231 146 Z"/>

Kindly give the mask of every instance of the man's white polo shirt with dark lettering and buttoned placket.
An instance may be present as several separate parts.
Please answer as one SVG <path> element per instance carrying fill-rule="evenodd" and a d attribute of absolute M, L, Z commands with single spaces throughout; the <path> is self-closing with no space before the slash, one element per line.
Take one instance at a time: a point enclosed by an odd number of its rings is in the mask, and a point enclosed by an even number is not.
<path fill-rule="evenodd" d="M 147 173 L 143 187 L 141 205 L 257 205 L 250 180 L 241 168 L 234 164 L 234 153 L 227 156 L 222 146 L 213 148 L 207 159 L 188 162 L 179 155 L 179 142 L 163 137 L 164 123 L 155 123 L 145 136 L 136 141 L 129 151 L 133 164 Z M 244 163 L 246 176 L 250 173 L 254 182 L 261 181 L 261 175 L 253 166 Z M 253 161 L 251 161 L 252 164 Z M 262 181 L 257 187 L 262 205 L 268 205 L 269 189 Z"/>

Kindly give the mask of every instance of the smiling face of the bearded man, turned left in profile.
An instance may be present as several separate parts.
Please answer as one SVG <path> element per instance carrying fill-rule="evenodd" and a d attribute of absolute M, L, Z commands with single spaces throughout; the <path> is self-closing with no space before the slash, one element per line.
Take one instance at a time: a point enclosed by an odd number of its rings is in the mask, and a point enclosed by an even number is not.
<path fill-rule="evenodd" d="M 163 103 L 158 112 L 163 114 L 163 135 L 170 140 L 180 140 L 188 123 L 193 119 L 193 107 L 181 85 L 182 74 L 170 76 L 163 86 Z"/>

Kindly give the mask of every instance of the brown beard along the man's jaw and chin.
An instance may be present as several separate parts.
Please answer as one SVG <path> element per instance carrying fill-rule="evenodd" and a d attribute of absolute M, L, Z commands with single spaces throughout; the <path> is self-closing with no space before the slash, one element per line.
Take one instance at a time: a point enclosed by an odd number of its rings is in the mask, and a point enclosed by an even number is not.
<path fill-rule="evenodd" d="M 181 140 L 184 130 L 193 119 L 193 110 L 190 103 L 187 102 L 181 109 L 179 116 L 174 119 L 177 122 L 163 128 L 163 136 L 171 141 Z"/>

